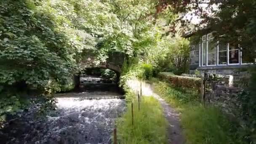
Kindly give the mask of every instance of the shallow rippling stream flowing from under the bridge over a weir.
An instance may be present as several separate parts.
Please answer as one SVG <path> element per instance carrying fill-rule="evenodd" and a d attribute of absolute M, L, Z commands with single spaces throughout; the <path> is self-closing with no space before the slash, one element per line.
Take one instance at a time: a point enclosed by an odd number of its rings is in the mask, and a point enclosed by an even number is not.
<path fill-rule="evenodd" d="M 91 78 L 89 77 L 89 79 Z M 96 83 L 97 81 L 99 80 L 96 80 Z M 86 85 L 89 84 L 90 82 L 86 82 L 82 85 L 83 91 L 77 93 L 56 94 L 57 109 L 49 112 L 45 119 L 36 120 L 34 118 L 34 107 L 22 117 L 9 122 L 0 131 L 0 143 L 108 143 L 114 128 L 115 118 L 119 117 L 125 110 L 125 101 L 124 99 L 112 99 L 121 96 L 117 89 L 114 91 L 113 83 L 107 85 L 110 91 L 102 91 L 102 89 L 87 91 L 85 90 L 88 88 Z M 103 87 L 106 87 L 105 83 L 102 84 Z M 99 85 L 98 82 L 95 87 L 100 88 Z M 92 99 L 93 97 L 97 97 L 97 99 Z M 104 99 L 100 99 L 101 97 Z"/>

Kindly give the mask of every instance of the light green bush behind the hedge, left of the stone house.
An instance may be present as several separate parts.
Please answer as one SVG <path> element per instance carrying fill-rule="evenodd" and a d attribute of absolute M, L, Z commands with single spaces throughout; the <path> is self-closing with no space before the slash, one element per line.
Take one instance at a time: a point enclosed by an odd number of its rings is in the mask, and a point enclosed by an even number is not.
<path fill-rule="evenodd" d="M 153 64 L 157 72 L 187 73 L 189 68 L 189 40 L 179 36 L 162 37 L 155 47 L 147 51 L 145 61 Z"/>

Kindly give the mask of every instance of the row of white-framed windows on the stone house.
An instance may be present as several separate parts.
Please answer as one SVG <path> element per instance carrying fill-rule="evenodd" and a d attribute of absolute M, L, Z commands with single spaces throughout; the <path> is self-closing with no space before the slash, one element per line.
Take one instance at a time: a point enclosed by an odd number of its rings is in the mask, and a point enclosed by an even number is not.
<path fill-rule="evenodd" d="M 254 64 L 255 56 L 252 56 L 253 49 L 240 51 L 240 45 L 213 41 L 213 35 L 203 35 L 200 45 L 199 62 L 200 66 Z"/>

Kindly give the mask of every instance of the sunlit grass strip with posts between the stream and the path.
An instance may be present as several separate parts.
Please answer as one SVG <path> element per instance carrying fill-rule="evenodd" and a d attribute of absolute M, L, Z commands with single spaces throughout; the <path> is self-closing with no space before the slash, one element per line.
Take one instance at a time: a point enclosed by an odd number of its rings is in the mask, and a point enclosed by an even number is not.
<path fill-rule="evenodd" d="M 129 93 L 130 95 L 131 93 Z M 131 96 L 130 96 L 131 97 Z M 128 103 L 125 114 L 117 120 L 117 139 L 120 144 L 166 144 L 167 122 L 163 109 L 153 97 L 133 101 L 134 121 L 132 125 L 131 104 Z"/>

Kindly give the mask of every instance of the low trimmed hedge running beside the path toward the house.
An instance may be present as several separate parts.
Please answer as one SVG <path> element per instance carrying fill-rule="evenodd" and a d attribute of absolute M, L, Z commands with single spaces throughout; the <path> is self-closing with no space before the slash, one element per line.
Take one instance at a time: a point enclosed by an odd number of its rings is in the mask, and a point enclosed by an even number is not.
<path fill-rule="evenodd" d="M 198 77 L 184 77 L 174 75 L 172 72 L 160 72 L 158 77 L 161 80 L 165 80 L 168 83 L 175 85 L 176 87 L 195 88 L 198 93 L 201 91 L 201 79 Z"/>

